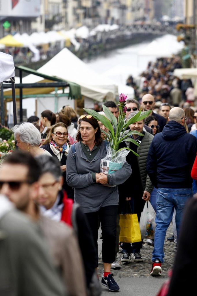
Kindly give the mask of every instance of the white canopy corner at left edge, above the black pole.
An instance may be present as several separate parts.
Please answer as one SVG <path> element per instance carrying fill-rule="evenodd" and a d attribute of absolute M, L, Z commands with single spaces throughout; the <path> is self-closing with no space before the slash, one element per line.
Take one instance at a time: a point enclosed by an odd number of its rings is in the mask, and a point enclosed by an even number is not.
<path fill-rule="evenodd" d="M 14 77 L 13 57 L 0 52 L 0 83 L 12 77 Z"/>

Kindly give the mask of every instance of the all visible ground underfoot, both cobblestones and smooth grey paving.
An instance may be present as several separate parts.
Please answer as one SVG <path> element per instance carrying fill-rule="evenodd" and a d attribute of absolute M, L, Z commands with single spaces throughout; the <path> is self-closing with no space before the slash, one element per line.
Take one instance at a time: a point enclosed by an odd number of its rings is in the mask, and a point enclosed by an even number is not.
<path fill-rule="evenodd" d="M 99 235 L 101 229 L 99 229 Z M 120 287 L 123 285 L 124 289 L 120 289 L 121 295 L 146 295 L 152 296 L 156 295 L 161 287 L 162 283 L 167 279 L 168 271 L 172 268 L 174 258 L 175 258 L 175 243 L 167 241 L 167 237 L 172 236 L 172 223 L 167 230 L 166 239 L 164 243 L 164 263 L 162 264 L 162 276 L 153 277 L 150 276 L 152 260 L 151 255 L 153 251 L 153 246 L 143 243 L 143 248 L 141 249 L 141 255 L 143 257 L 143 262 L 131 262 L 131 263 L 121 263 L 120 259 L 122 254 L 117 254 L 117 261 L 120 263 L 121 268 L 111 272 L 114 274 L 114 279 L 118 282 Z M 99 267 L 98 275 L 101 281 L 103 274 L 103 263 L 102 263 L 102 239 L 98 239 L 98 252 L 99 252 Z M 143 278 L 143 279 L 142 279 Z M 107 288 L 102 286 L 103 294 L 105 295 L 109 291 Z M 135 289 L 134 289 L 135 287 Z M 149 289 L 149 290 L 148 290 Z M 132 291 L 135 291 L 133 294 Z M 134 292 L 133 291 L 133 292 Z"/>

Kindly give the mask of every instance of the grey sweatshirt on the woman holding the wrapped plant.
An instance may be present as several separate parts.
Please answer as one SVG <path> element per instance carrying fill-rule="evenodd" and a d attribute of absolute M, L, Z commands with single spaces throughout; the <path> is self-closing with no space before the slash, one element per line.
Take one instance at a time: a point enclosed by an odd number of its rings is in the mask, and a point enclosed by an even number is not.
<path fill-rule="evenodd" d="M 84 213 L 96 212 L 101 207 L 118 205 L 119 196 L 117 186 L 108 187 L 93 181 L 92 173 L 100 172 L 101 159 L 106 156 L 105 143 L 92 161 L 89 161 L 82 151 L 80 142 L 75 144 L 76 158 L 69 149 L 66 163 L 67 184 L 74 188 L 75 202 L 78 202 Z M 125 162 L 117 172 L 109 175 L 109 185 L 119 185 L 129 178 L 132 170 Z"/>

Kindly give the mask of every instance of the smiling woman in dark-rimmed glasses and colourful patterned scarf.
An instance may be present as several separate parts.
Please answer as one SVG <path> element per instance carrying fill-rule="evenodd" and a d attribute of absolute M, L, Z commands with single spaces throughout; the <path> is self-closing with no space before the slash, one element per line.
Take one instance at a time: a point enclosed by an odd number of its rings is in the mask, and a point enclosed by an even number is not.
<path fill-rule="evenodd" d="M 48 138 L 44 141 L 42 148 L 59 160 L 64 178 L 63 188 L 66 190 L 68 197 L 73 198 L 73 190 L 66 182 L 66 161 L 69 150 L 67 139 L 67 126 L 63 122 L 56 123 L 51 127 Z"/>

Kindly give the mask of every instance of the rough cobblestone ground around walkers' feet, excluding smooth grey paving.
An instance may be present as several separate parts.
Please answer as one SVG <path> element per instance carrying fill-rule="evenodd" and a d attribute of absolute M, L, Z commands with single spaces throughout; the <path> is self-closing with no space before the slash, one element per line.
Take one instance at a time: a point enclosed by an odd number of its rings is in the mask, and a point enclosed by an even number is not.
<path fill-rule="evenodd" d="M 167 237 L 172 236 L 172 223 L 167 230 L 166 239 L 164 243 L 164 263 L 162 264 L 162 277 L 167 277 L 169 269 L 172 268 L 174 258 L 175 258 L 175 243 L 167 241 Z M 111 271 L 114 276 L 117 277 L 149 277 L 152 267 L 151 255 L 153 251 L 153 246 L 143 243 L 143 248 L 141 249 L 141 256 L 143 257 L 143 262 L 131 262 L 131 263 L 122 263 L 120 259 L 122 254 L 117 254 L 117 261 L 121 265 L 120 269 Z M 98 275 L 102 276 L 103 273 L 103 263 L 102 263 L 102 254 L 99 256 L 99 267 Z"/>

